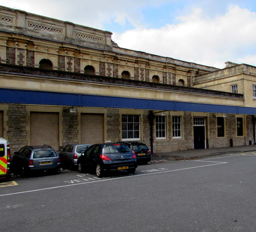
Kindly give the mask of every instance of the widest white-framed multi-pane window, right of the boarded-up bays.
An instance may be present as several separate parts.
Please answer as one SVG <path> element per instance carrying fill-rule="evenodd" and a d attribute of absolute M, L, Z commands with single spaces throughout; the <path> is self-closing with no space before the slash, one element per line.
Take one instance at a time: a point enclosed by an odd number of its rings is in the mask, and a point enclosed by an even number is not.
<path fill-rule="evenodd" d="M 122 115 L 122 139 L 140 140 L 140 115 Z"/>

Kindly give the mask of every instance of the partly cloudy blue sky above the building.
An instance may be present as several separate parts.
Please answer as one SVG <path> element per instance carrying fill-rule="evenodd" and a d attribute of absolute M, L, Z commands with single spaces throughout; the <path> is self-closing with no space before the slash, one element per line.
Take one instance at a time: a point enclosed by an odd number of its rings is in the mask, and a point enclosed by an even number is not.
<path fill-rule="evenodd" d="M 224 68 L 256 66 L 256 0 L 0 0 L 112 32 L 122 48 Z"/>

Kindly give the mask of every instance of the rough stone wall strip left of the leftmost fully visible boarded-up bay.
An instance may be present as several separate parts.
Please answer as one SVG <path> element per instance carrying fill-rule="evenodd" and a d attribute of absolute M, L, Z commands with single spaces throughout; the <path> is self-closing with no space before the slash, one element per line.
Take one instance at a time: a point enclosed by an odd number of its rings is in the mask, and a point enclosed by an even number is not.
<path fill-rule="evenodd" d="M 7 136 L 12 145 L 12 153 L 18 151 L 21 147 L 27 145 L 26 131 L 26 106 L 18 104 L 9 104 L 8 116 L 8 131 Z"/>

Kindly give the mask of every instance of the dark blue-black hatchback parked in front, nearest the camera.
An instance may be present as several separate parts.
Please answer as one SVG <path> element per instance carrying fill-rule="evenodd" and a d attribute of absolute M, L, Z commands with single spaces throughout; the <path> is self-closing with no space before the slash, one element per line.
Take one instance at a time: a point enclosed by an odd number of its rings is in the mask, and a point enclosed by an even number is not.
<path fill-rule="evenodd" d="M 78 172 L 96 171 L 102 177 L 110 171 L 127 171 L 137 168 L 136 155 L 124 143 L 100 143 L 89 147 L 77 160 Z"/>

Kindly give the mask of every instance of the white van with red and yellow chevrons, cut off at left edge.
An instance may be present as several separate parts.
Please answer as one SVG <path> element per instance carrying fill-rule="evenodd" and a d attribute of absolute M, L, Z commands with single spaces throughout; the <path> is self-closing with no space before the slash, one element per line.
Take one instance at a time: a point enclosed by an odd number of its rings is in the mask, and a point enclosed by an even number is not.
<path fill-rule="evenodd" d="M 0 179 L 8 179 L 10 177 L 10 144 L 0 138 Z"/>

